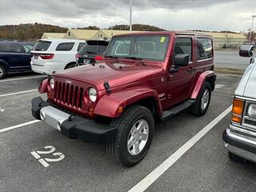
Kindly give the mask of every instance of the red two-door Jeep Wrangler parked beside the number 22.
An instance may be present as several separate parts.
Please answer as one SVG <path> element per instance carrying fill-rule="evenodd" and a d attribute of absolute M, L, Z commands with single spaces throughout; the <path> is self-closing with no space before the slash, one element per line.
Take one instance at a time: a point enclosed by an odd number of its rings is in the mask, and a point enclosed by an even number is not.
<path fill-rule="evenodd" d="M 210 36 L 145 32 L 114 36 L 101 63 L 78 66 L 42 82 L 32 100 L 34 118 L 69 138 L 106 143 L 118 163 L 145 157 L 154 120 L 189 108 L 202 116 L 214 90 Z"/>

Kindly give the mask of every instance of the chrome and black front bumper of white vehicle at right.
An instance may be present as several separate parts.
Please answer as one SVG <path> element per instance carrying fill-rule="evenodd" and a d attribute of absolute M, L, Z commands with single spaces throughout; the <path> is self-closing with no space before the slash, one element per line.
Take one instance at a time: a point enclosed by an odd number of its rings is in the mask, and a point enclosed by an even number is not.
<path fill-rule="evenodd" d="M 231 153 L 256 162 L 256 137 L 254 134 L 254 132 L 242 130 L 241 127 L 230 125 L 230 128 L 224 130 L 222 138 L 226 149 Z"/>

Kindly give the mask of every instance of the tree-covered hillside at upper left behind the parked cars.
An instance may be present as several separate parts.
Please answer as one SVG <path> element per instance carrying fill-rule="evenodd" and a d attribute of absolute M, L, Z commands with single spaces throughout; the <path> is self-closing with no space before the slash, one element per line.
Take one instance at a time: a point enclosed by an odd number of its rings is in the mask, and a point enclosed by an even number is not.
<path fill-rule="evenodd" d="M 43 33 L 66 33 L 66 30 L 67 28 L 61 26 L 51 26 L 37 22 L 17 26 L 0 26 L 0 38 L 31 41 L 41 38 Z"/>

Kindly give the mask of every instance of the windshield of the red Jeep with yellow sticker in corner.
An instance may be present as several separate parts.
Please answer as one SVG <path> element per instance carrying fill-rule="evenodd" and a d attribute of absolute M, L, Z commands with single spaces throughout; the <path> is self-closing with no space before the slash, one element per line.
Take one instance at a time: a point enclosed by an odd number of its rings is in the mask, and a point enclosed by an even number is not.
<path fill-rule="evenodd" d="M 163 61 L 166 58 L 168 43 L 168 35 L 134 35 L 112 38 L 106 57 Z"/>

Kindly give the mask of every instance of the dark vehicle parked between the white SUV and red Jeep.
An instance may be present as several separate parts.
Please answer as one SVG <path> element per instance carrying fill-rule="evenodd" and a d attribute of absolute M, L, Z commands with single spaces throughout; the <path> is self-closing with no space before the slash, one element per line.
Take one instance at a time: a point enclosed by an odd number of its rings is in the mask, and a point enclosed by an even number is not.
<path fill-rule="evenodd" d="M 76 54 L 77 65 L 82 66 L 102 61 L 103 53 L 108 45 L 109 41 L 106 40 L 86 41 L 86 45 L 82 46 L 78 51 L 78 54 Z"/>

